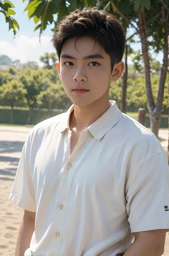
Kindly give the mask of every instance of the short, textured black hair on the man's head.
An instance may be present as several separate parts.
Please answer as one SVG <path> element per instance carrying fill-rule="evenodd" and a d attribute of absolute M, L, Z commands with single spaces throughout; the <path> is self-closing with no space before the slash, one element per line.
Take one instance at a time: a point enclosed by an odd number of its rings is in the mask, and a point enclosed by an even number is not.
<path fill-rule="evenodd" d="M 76 9 L 60 20 L 51 40 L 59 60 L 67 39 L 84 36 L 92 37 L 101 44 L 111 57 L 112 70 L 114 64 L 122 60 L 126 45 L 123 26 L 114 15 L 97 7 Z"/>

